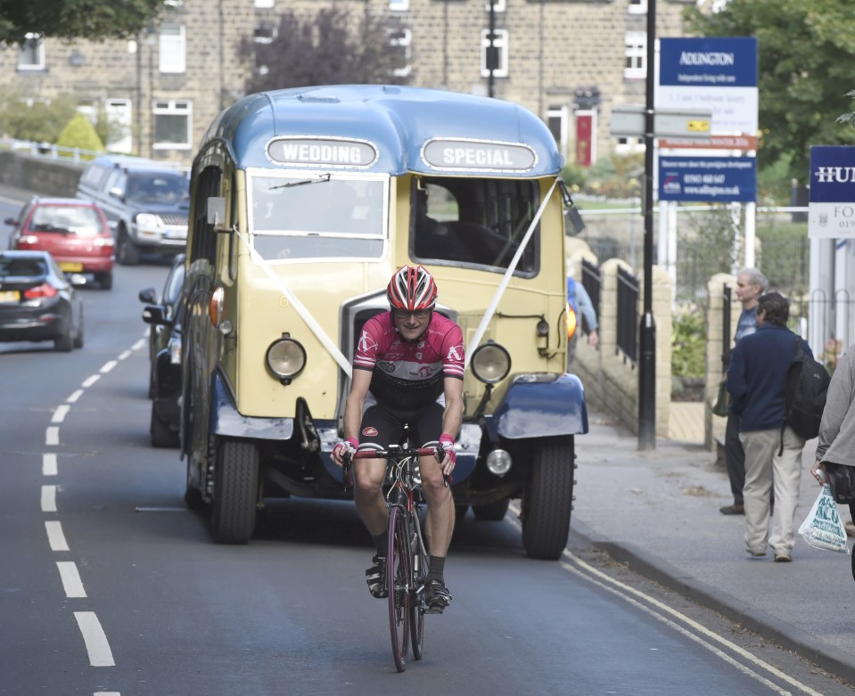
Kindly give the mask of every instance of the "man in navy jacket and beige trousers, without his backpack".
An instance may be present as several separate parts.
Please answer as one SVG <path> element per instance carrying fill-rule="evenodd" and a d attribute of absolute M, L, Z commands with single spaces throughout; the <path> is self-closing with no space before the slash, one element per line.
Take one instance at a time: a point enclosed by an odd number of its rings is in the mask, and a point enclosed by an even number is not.
<path fill-rule="evenodd" d="M 761 295 L 757 331 L 736 344 L 728 365 L 731 408 L 740 417 L 739 439 L 745 452 L 745 551 L 760 558 L 769 546 L 777 562 L 793 560 L 793 520 L 805 442 L 786 422 L 785 386 L 797 346 L 813 361 L 807 341 L 786 328 L 789 314 L 789 302 L 781 294 Z"/>

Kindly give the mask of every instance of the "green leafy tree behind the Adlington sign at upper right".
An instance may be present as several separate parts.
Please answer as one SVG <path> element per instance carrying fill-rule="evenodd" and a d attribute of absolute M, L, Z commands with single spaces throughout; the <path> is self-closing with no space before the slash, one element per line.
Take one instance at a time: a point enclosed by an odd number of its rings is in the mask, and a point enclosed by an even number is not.
<path fill-rule="evenodd" d="M 730 0 L 711 15 L 690 7 L 686 20 L 702 36 L 758 38 L 760 167 L 788 160 L 789 176 L 804 181 L 810 145 L 855 143 L 833 113 L 855 61 L 851 0 Z"/>

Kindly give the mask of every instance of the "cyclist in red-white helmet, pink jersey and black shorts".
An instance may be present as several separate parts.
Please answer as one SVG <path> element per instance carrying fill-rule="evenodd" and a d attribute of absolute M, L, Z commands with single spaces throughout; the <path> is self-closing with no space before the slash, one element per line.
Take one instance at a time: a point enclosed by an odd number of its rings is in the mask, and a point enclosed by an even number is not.
<path fill-rule="evenodd" d="M 333 461 L 341 466 L 345 452 L 397 445 L 405 422 L 415 442 L 444 447 L 439 465 L 434 457 L 419 462 L 431 554 L 424 602 L 430 613 L 442 613 L 451 602 L 443 570 L 455 523 L 454 500 L 443 477 L 454 471 L 454 441 L 463 416 L 463 332 L 434 312 L 436 282 L 422 266 L 399 268 L 387 296 L 390 311 L 369 319 L 359 337 L 344 411 L 346 439 L 333 448 Z M 432 439 L 437 435 L 438 440 Z M 382 598 L 388 596 L 388 513 L 382 496 L 386 461 L 358 459 L 353 472 L 359 516 L 377 547 L 366 570 L 368 589 Z"/>

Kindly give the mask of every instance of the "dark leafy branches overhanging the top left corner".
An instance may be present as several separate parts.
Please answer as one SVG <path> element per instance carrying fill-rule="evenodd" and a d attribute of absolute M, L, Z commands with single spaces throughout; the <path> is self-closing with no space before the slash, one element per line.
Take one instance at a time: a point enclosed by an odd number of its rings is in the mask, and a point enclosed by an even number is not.
<path fill-rule="evenodd" d="M 136 37 L 157 18 L 163 0 L 0 0 L 0 45 L 28 34 L 73 40 Z"/>

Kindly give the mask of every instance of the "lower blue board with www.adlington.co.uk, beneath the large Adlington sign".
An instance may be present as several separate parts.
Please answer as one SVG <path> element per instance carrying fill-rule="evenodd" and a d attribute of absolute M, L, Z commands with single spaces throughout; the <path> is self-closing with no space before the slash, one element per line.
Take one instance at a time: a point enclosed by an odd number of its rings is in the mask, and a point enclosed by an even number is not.
<path fill-rule="evenodd" d="M 659 156 L 660 201 L 750 202 L 757 198 L 753 157 Z"/>

